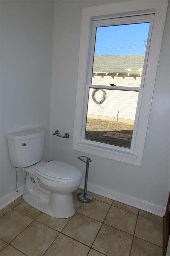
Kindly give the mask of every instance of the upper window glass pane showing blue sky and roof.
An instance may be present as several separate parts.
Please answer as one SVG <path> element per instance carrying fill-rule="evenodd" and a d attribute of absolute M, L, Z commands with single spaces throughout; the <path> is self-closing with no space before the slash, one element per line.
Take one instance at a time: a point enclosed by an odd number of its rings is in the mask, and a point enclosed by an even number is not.
<path fill-rule="evenodd" d="M 96 28 L 91 84 L 140 87 L 149 24 Z"/>

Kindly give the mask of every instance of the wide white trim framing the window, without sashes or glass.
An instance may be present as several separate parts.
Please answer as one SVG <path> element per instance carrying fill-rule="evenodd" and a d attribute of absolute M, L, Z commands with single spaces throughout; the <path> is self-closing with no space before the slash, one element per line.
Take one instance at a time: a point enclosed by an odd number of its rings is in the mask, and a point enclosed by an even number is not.
<path fill-rule="evenodd" d="M 76 96 L 76 110 L 75 110 L 75 124 L 73 136 L 73 149 L 90 153 L 97 156 L 102 156 L 117 161 L 130 163 L 141 166 L 142 155 L 144 150 L 146 131 L 149 121 L 149 113 L 151 108 L 154 83 L 156 79 L 156 72 L 163 36 L 163 29 L 166 18 L 168 1 L 125 1 L 120 3 L 106 4 L 95 7 L 83 8 L 82 14 L 82 29 L 81 42 L 79 54 L 79 70 L 78 70 L 78 84 Z M 135 145 L 133 152 L 127 150 L 110 149 L 108 144 L 100 145 L 94 141 L 82 139 L 83 130 L 83 116 L 85 115 L 87 107 L 87 99 L 85 98 L 86 91 L 86 74 L 89 64 L 90 33 L 92 21 L 99 19 L 129 17 L 143 14 L 154 14 L 154 22 L 152 28 L 152 37 L 150 41 L 150 52 L 146 67 L 145 80 L 148 84 L 144 86 L 140 115 L 138 119 L 137 134 L 135 138 Z M 105 15 L 105 16 L 104 16 Z M 153 65 L 154 64 L 154 65 Z M 91 86 L 91 85 L 90 85 Z M 93 86 L 91 86 L 94 88 Z M 97 87 L 98 88 L 98 87 Z M 102 86 L 103 88 L 103 86 Z M 108 88 L 107 88 L 108 89 Z M 140 88 L 138 88 L 139 90 Z M 142 93 L 139 93 L 140 97 Z M 138 96 L 139 97 L 139 96 Z M 144 101 L 143 101 L 144 99 Z M 86 100 L 86 101 L 85 101 Z M 84 115 L 82 115 L 84 113 Z M 142 125 L 143 127 L 141 127 Z M 139 136 L 140 134 L 140 136 Z M 88 141 L 88 143 L 86 142 Z M 103 144 L 103 143 L 102 143 Z M 105 146 L 106 145 L 106 146 Z"/>

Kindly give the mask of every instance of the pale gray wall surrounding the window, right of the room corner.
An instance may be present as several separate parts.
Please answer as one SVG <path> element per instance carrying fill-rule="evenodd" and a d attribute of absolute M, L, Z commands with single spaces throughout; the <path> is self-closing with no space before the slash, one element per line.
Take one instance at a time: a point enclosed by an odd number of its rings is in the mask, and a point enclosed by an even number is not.
<path fill-rule="evenodd" d="M 107 3 L 107 2 L 102 2 Z M 67 140 L 51 136 L 50 158 L 67 161 L 85 174 L 72 150 L 82 8 L 98 1 L 56 1 L 54 6 L 51 133 L 69 132 Z M 89 183 L 165 206 L 169 191 L 169 12 L 166 19 L 142 166 L 94 155 Z"/>

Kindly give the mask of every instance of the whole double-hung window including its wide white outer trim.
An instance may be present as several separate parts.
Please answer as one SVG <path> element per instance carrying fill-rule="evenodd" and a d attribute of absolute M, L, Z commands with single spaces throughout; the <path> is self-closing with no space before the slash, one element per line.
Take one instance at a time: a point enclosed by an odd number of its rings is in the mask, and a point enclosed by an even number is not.
<path fill-rule="evenodd" d="M 141 165 L 167 8 L 158 2 L 84 8 L 73 149 Z"/>

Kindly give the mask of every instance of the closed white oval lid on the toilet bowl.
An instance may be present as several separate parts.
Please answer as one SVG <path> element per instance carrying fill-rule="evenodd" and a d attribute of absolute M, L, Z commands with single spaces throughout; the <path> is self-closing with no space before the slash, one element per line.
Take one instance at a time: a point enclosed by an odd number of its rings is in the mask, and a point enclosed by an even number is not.
<path fill-rule="evenodd" d="M 81 171 L 73 165 L 59 162 L 59 161 L 50 161 L 47 164 L 44 164 L 37 168 L 36 173 L 40 176 L 49 176 L 51 178 L 58 179 L 76 179 L 82 175 Z"/>

